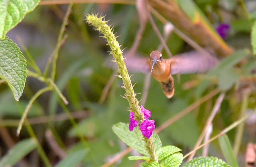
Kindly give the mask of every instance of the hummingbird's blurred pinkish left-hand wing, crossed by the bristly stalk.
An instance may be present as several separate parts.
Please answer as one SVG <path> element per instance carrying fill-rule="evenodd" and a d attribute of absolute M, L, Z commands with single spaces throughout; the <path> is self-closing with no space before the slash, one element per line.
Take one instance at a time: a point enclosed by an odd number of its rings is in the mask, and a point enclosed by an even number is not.
<path fill-rule="evenodd" d="M 150 73 L 150 58 L 126 57 L 124 62 L 128 72 L 145 74 Z M 108 62 L 105 62 L 104 65 L 108 68 L 117 70 L 116 62 L 108 60 Z"/>

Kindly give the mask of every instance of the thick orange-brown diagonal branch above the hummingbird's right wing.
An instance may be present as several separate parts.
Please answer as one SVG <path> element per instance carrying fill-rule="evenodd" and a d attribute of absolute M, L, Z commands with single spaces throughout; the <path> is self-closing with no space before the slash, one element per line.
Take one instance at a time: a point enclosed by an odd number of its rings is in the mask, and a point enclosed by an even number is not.
<path fill-rule="evenodd" d="M 214 48 L 214 51 L 220 56 L 232 54 L 233 50 L 211 28 L 204 24 L 199 14 L 195 18 L 196 20 L 191 20 L 174 0 L 168 0 L 167 2 L 150 0 L 149 3 L 170 20 L 175 27 L 186 32 L 201 46 Z"/>

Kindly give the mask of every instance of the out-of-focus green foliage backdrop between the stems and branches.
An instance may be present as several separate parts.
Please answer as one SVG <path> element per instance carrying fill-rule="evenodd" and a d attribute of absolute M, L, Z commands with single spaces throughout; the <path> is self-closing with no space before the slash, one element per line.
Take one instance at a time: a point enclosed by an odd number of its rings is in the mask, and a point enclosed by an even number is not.
<path fill-rule="evenodd" d="M 20 37 L 41 72 L 44 71 L 48 58 L 56 46 L 58 33 L 68 6 L 67 4 L 58 4 L 58 1 L 52 1 L 56 4 L 47 5 L 42 5 L 42 2 L 34 11 L 27 14 L 20 24 L 6 34 L 24 53 L 24 48 L 18 41 L 18 36 Z M 120 0 L 120 2 L 123 1 Z M 136 3 L 135 1 L 130 2 Z M 78 159 L 82 159 L 80 166 L 100 166 L 127 148 L 112 131 L 112 125 L 118 122 L 129 123 L 128 102 L 121 97 L 124 95 L 124 89 L 120 87 L 122 81 L 118 77 L 114 78 L 106 99 L 100 102 L 104 87 L 114 72 L 114 70 L 106 68 L 104 62 L 112 60 L 112 57 L 108 55 L 110 49 L 106 46 L 105 39 L 84 22 L 86 13 L 106 14 L 106 20 L 110 20 L 109 24 L 114 25 L 116 36 L 120 36 L 117 40 L 122 44 L 122 49 L 126 48 L 124 50 L 126 52 L 132 47 L 136 37 L 139 17 L 136 6 L 125 3 L 128 2 L 110 4 L 106 1 L 105 4 L 80 3 L 74 4 L 72 7 L 72 13 L 64 32 L 68 37 L 60 48 L 55 77 L 56 85 L 69 104 L 65 107 L 56 93 L 46 92 L 33 103 L 28 114 L 32 130 L 52 165 L 60 163 L 62 158 L 51 145 L 51 140 L 46 137 L 47 129 L 52 131 L 52 138 L 62 151 L 69 155 L 68 157 L 80 154 L 78 157 Z M 250 38 L 252 23 L 256 18 L 255 2 L 254 0 L 244 2 L 242 0 L 194 0 L 193 3 L 196 10 L 200 9 L 199 13 L 204 15 L 213 30 L 222 22 L 231 26 L 224 41 L 233 48 L 233 57 L 237 59 L 234 60 L 232 56 L 228 56 L 221 62 L 223 65 L 221 68 L 213 69 L 207 74 L 181 75 L 180 80 L 175 75 L 175 94 L 171 99 L 166 98 L 160 83 L 152 78 L 144 107 L 151 111 L 151 119 L 156 121 L 155 125 L 158 127 L 192 103 L 197 102 L 214 88 L 220 87 L 226 91 L 226 96 L 221 104 L 220 112 L 212 122 L 212 136 L 214 136 L 241 117 L 241 103 L 245 90 L 250 92 L 246 110 L 248 112 L 250 109 L 255 111 L 256 108 L 256 58 L 251 52 Z M 162 33 L 164 24 L 157 17 L 153 16 L 153 18 Z M 156 50 L 159 44 L 160 40 L 150 22 L 147 22 L 137 53 L 141 56 L 149 56 L 150 52 Z M 176 33 L 170 35 L 166 44 L 174 55 L 192 50 L 192 47 Z M 27 54 L 24 56 L 28 59 Z M 163 51 L 163 56 L 164 58 L 168 57 L 165 51 Z M 33 71 L 30 66 L 27 68 Z M 132 76 L 132 83 L 136 83 L 135 93 L 143 92 L 144 78 L 144 74 Z M 4 157 L 10 148 L 18 144 L 18 141 L 33 137 L 27 129 L 27 124 L 22 128 L 19 137 L 16 137 L 16 128 L 28 101 L 46 85 L 36 78 L 28 77 L 26 80 L 20 102 L 13 99 L 7 83 L 0 83 L 1 157 Z M 138 94 L 136 97 L 140 100 L 142 94 Z M 183 155 L 191 151 L 217 97 L 218 95 L 215 95 L 208 99 L 191 113 L 162 130 L 159 133 L 162 144 L 179 147 L 182 149 Z M 85 114 L 81 114 L 79 111 Z M 74 118 L 77 126 L 74 122 L 72 123 L 71 117 Z M 244 165 L 243 157 L 247 143 L 256 141 L 255 134 L 255 121 L 247 122 L 237 157 L 240 166 Z M 233 146 L 236 129 L 232 129 L 227 135 Z M 81 149 L 84 151 L 80 152 Z M 199 150 L 196 156 L 200 156 L 201 152 Z M 130 155 L 136 154 L 131 152 L 114 165 L 134 166 L 134 161 L 127 159 Z M 208 155 L 225 161 L 217 140 L 210 143 Z M 38 152 L 32 151 L 17 165 L 44 165 L 38 157 Z M 75 160 L 74 163 L 76 163 Z"/>

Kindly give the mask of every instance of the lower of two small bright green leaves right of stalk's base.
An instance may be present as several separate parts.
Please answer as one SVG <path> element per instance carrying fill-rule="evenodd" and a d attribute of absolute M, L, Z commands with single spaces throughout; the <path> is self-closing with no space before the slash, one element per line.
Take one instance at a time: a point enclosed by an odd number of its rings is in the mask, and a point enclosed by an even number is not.
<path fill-rule="evenodd" d="M 161 167 L 179 167 L 183 161 L 182 153 L 174 153 L 169 157 L 166 157 L 160 163 Z"/>

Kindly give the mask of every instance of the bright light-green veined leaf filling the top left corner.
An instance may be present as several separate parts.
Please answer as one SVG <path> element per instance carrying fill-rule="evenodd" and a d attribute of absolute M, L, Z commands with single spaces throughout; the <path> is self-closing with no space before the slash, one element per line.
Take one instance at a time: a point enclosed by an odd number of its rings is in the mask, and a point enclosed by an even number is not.
<path fill-rule="evenodd" d="M 0 0 L 0 39 L 36 8 L 40 0 Z"/>

